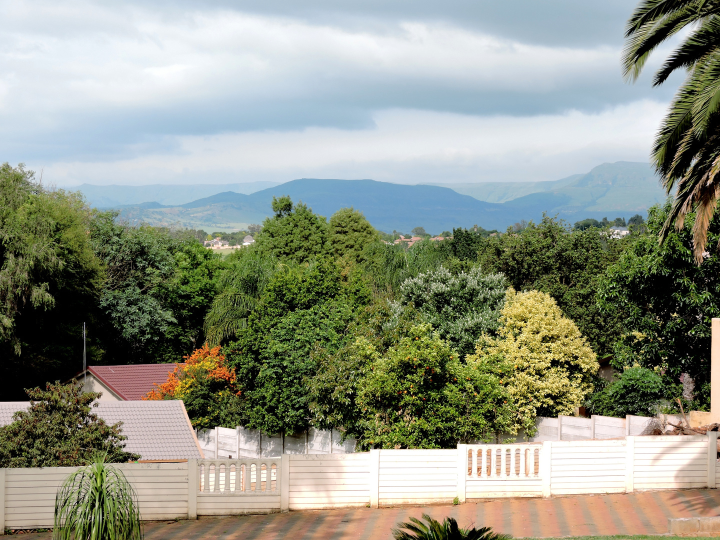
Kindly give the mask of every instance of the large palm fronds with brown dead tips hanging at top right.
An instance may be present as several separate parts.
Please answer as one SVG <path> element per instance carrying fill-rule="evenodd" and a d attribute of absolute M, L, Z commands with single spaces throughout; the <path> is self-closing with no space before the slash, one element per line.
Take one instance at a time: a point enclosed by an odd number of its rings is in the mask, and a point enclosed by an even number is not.
<path fill-rule="evenodd" d="M 667 194 L 675 189 L 660 241 L 673 223 L 683 228 L 694 209 L 693 251 L 700 264 L 720 197 L 720 0 L 643 0 L 627 23 L 623 68 L 635 81 L 652 51 L 686 27 L 690 31 L 654 76 L 657 86 L 678 69 L 687 72 L 660 126 L 652 162 Z"/>

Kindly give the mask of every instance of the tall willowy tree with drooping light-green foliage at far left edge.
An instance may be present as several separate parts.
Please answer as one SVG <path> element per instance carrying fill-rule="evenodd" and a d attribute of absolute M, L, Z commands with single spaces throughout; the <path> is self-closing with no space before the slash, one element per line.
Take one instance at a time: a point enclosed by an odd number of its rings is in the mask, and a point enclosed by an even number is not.
<path fill-rule="evenodd" d="M 6 399 L 82 367 L 103 268 L 91 247 L 84 200 L 46 190 L 32 171 L 0 166 L 0 365 Z"/>

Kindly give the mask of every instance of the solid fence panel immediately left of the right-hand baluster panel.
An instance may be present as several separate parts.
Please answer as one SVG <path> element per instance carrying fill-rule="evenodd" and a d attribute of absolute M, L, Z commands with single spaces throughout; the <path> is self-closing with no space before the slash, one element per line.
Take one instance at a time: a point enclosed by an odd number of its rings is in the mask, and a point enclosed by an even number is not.
<path fill-rule="evenodd" d="M 379 451 L 379 505 L 449 503 L 456 496 L 457 449 Z"/>

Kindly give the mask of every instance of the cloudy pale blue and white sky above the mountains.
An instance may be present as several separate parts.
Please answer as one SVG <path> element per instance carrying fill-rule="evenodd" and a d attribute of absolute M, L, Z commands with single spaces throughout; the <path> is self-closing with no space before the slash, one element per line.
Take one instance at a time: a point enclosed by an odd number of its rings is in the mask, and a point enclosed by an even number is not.
<path fill-rule="evenodd" d="M 635 1 L 0 0 L 0 161 L 46 183 L 539 181 L 649 159 Z"/>

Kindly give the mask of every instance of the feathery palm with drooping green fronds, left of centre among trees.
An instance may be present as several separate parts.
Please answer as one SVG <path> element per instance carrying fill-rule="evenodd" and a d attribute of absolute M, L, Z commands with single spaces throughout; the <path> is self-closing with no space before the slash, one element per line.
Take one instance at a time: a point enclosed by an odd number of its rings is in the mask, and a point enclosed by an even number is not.
<path fill-rule="evenodd" d="M 248 253 L 227 269 L 218 282 L 218 294 L 205 316 L 204 331 L 210 346 L 217 346 L 246 328 L 265 287 L 284 268 L 275 258 Z"/>

